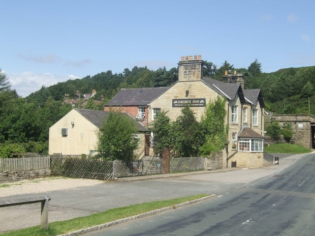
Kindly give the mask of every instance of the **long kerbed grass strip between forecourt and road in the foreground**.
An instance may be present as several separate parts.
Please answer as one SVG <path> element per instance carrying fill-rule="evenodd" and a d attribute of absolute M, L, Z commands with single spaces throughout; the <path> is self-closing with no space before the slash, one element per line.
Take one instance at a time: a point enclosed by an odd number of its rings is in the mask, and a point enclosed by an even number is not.
<path fill-rule="evenodd" d="M 40 229 L 40 226 L 34 226 L 22 230 L 3 233 L 1 234 L 1 236 L 56 236 L 80 229 L 89 228 L 95 225 L 105 224 L 111 221 L 119 220 L 133 215 L 138 215 L 163 207 L 174 206 L 206 196 L 209 196 L 209 194 L 198 194 L 184 198 L 142 203 L 130 205 L 128 207 L 119 207 L 85 217 L 52 222 L 48 224 L 47 231 Z"/>

